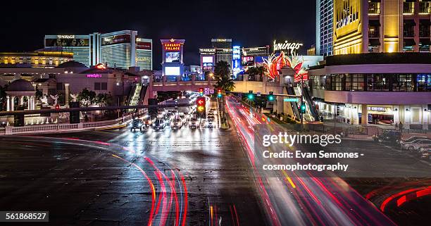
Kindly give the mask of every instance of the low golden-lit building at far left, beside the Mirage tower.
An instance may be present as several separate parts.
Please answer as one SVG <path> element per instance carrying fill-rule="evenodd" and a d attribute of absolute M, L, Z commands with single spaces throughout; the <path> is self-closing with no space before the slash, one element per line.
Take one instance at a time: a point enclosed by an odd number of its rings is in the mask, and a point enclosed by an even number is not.
<path fill-rule="evenodd" d="M 55 68 L 72 60 L 73 53 L 63 51 L 0 53 L 0 68 Z"/>

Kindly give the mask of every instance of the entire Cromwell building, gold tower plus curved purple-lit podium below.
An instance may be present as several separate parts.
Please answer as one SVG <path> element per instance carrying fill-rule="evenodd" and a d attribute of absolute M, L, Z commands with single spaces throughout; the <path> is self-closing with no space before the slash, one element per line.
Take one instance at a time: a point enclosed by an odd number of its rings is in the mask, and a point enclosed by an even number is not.
<path fill-rule="evenodd" d="M 334 56 L 309 70 L 320 114 L 429 130 L 431 1 L 333 2 Z"/>

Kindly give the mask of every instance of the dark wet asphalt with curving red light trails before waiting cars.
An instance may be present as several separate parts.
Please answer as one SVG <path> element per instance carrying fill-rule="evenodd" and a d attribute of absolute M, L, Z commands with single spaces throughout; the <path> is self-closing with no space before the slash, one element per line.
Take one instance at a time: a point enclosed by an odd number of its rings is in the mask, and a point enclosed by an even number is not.
<path fill-rule="evenodd" d="M 49 211 L 43 225 L 267 225 L 232 130 L 0 137 L 0 150 L 0 209 Z"/>

